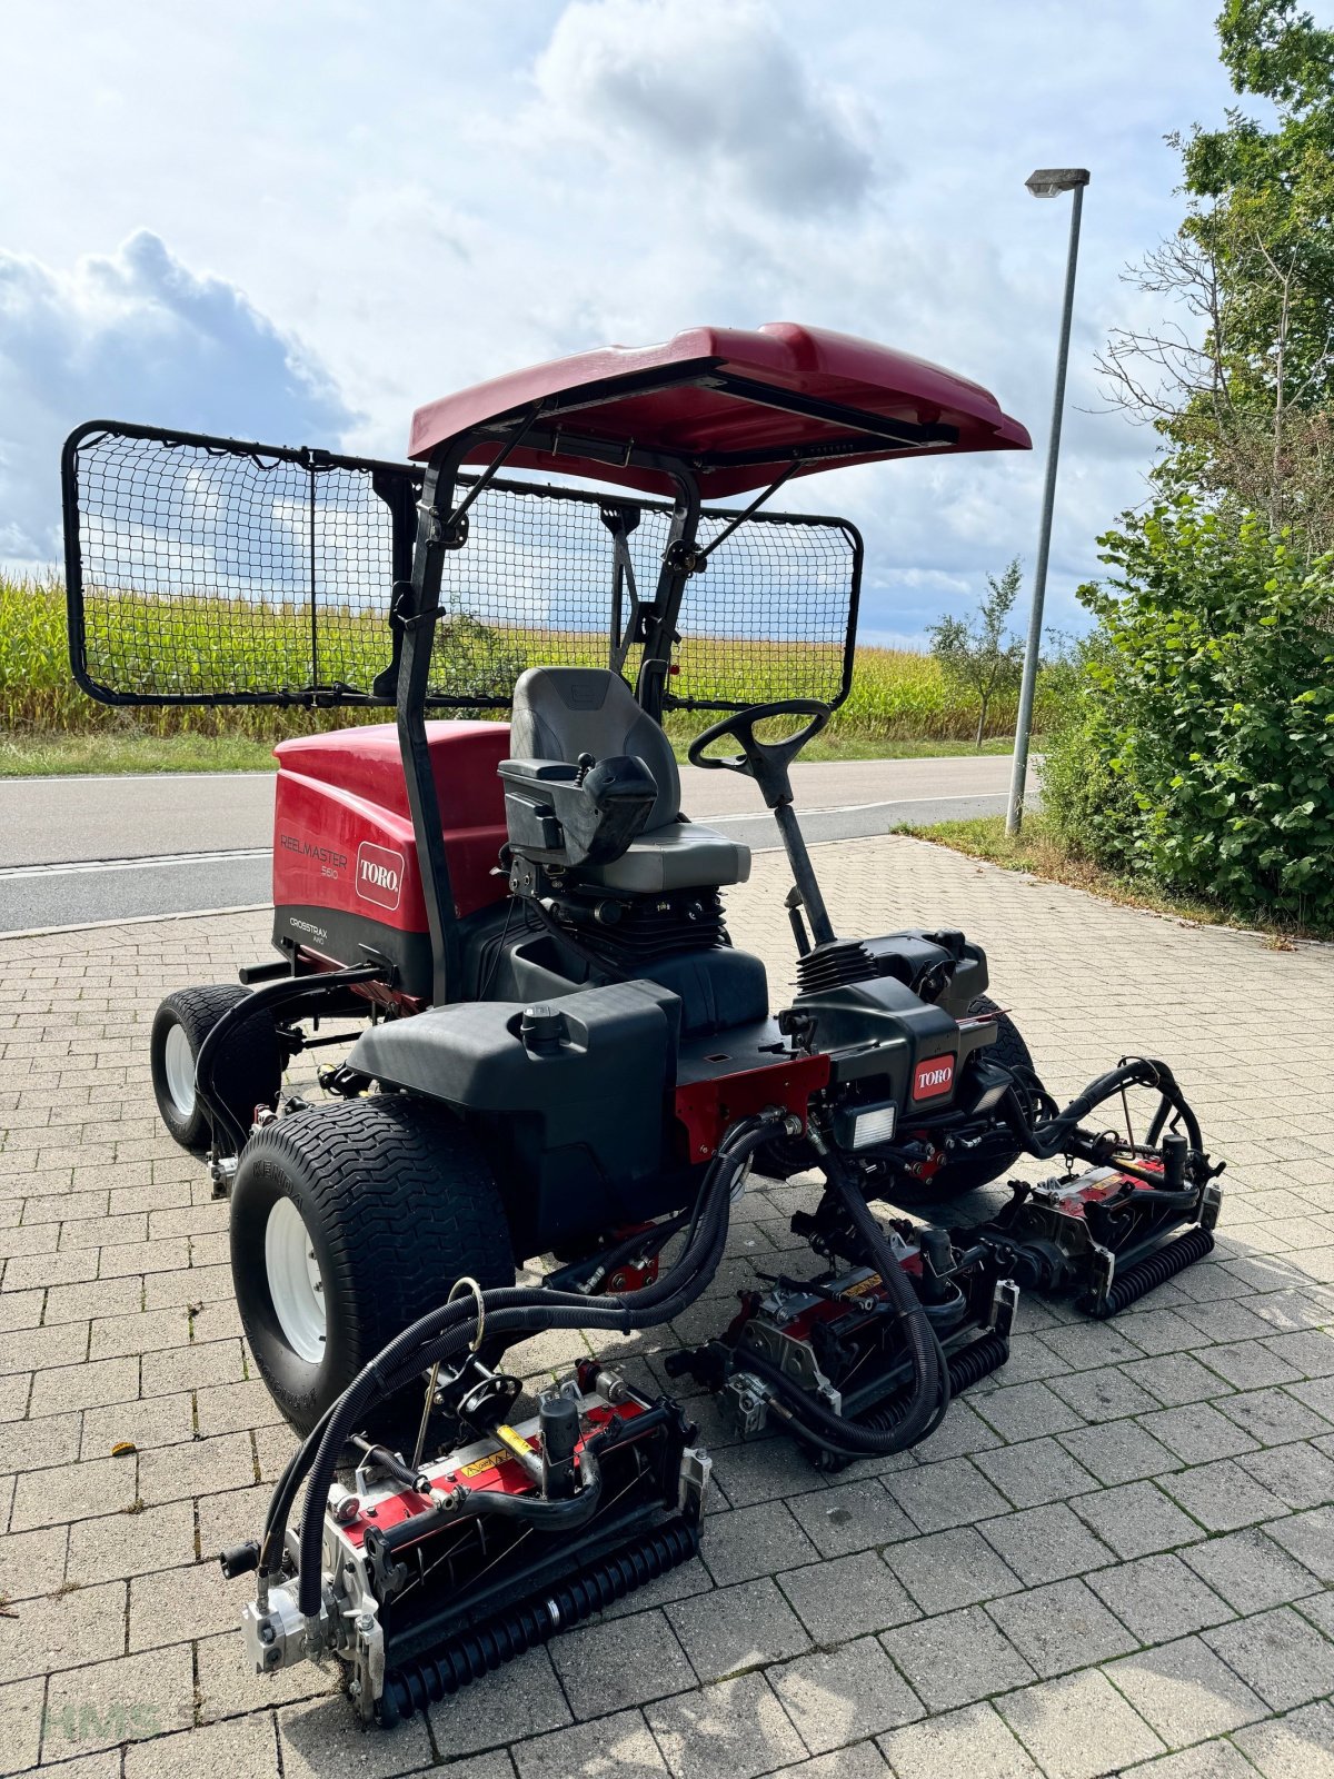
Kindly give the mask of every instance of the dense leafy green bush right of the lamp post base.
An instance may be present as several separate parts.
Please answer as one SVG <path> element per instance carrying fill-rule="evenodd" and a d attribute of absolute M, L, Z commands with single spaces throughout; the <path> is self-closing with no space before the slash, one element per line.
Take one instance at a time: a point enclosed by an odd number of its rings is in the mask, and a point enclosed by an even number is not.
<path fill-rule="evenodd" d="M 1190 496 L 1101 539 L 1046 808 L 1103 865 L 1334 929 L 1334 557 Z"/>

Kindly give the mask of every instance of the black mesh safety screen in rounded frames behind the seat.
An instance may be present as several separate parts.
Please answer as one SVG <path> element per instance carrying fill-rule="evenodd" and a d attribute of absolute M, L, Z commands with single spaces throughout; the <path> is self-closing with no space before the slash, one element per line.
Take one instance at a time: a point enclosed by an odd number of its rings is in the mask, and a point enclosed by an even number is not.
<path fill-rule="evenodd" d="M 411 571 L 420 477 L 80 427 L 64 457 L 75 678 L 114 704 L 391 704 L 390 601 Z M 733 519 L 706 511 L 699 543 Z M 633 681 L 639 651 L 614 639 L 633 635 L 635 596 L 653 601 L 669 527 L 660 502 L 486 486 L 466 544 L 445 553 L 427 703 L 498 710 L 525 667 L 614 655 Z M 687 584 L 669 706 L 841 703 L 859 580 L 861 539 L 845 521 L 747 519 Z"/>

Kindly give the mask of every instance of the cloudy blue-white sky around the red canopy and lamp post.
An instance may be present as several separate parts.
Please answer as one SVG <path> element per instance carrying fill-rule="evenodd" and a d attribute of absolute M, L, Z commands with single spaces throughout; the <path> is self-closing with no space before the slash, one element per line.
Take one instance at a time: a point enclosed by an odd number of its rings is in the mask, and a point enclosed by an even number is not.
<path fill-rule="evenodd" d="M 1032 562 L 1067 199 L 1092 169 L 1049 616 L 1144 498 L 1094 352 L 1220 119 L 1217 0 L 59 0 L 0 9 L 0 562 L 59 557 L 59 443 L 123 418 L 402 455 L 416 404 L 695 322 L 937 359 L 1030 457 L 834 471 L 863 633 Z M 1320 11 L 1327 11 L 1320 7 Z"/>

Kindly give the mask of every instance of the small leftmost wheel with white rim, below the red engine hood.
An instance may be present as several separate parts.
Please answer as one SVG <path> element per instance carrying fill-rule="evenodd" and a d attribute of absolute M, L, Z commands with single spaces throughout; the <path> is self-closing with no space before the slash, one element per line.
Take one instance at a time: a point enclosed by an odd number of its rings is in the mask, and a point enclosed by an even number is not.
<path fill-rule="evenodd" d="M 183 1149 L 208 1149 L 212 1128 L 194 1092 L 199 1046 L 224 1012 L 251 998 L 237 982 L 215 982 L 169 994 L 157 1010 L 149 1039 L 153 1096 L 162 1123 Z M 224 1039 L 213 1067 L 213 1089 L 242 1130 L 254 1108 L 276 1105 L 283 1089 L 283 1050 L 272 1014 L 260 1009 Z"/>

